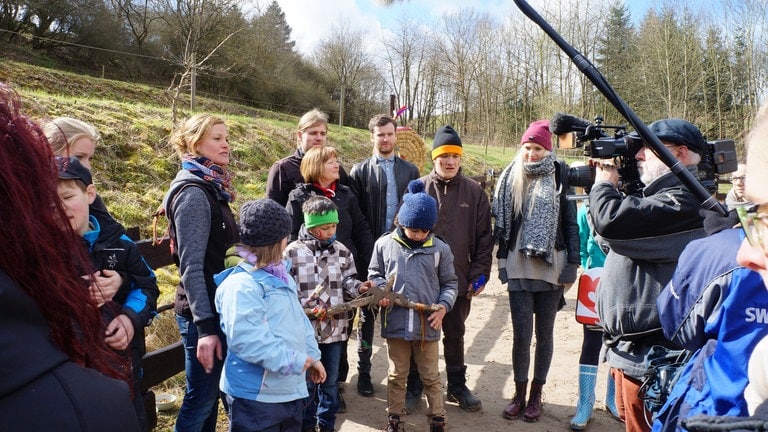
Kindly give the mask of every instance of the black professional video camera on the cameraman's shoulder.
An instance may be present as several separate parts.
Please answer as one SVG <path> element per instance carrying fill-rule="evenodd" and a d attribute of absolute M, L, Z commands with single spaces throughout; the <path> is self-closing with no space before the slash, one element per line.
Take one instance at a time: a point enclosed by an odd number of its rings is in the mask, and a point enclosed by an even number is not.
<path fill-rule="evenodd" d="M 632 195 L 644 187 L 640 181 L 635 154 L 643 145 L 639 137 L 627 133 L 626 126 L 603 125 L 597 116 L 595 123 L 579 117 L 557 113 L 550 122 L 550 130 L 558 136 L 560 148 L 584 147 L 584 156 L 591 159 L 613 159 L 618 167 L 619 188 Z M 606 130 L 612 130 L 609 134 Z M 736 146 L 733 140 L 708 141 L 698 165 L 698 180 L 711 193 L 717 192 L 721 174 L 736 171 Z M 589 189 L 595 182 L 594 167 L 570 168 L 568 181 L 572 186 Z"/>

